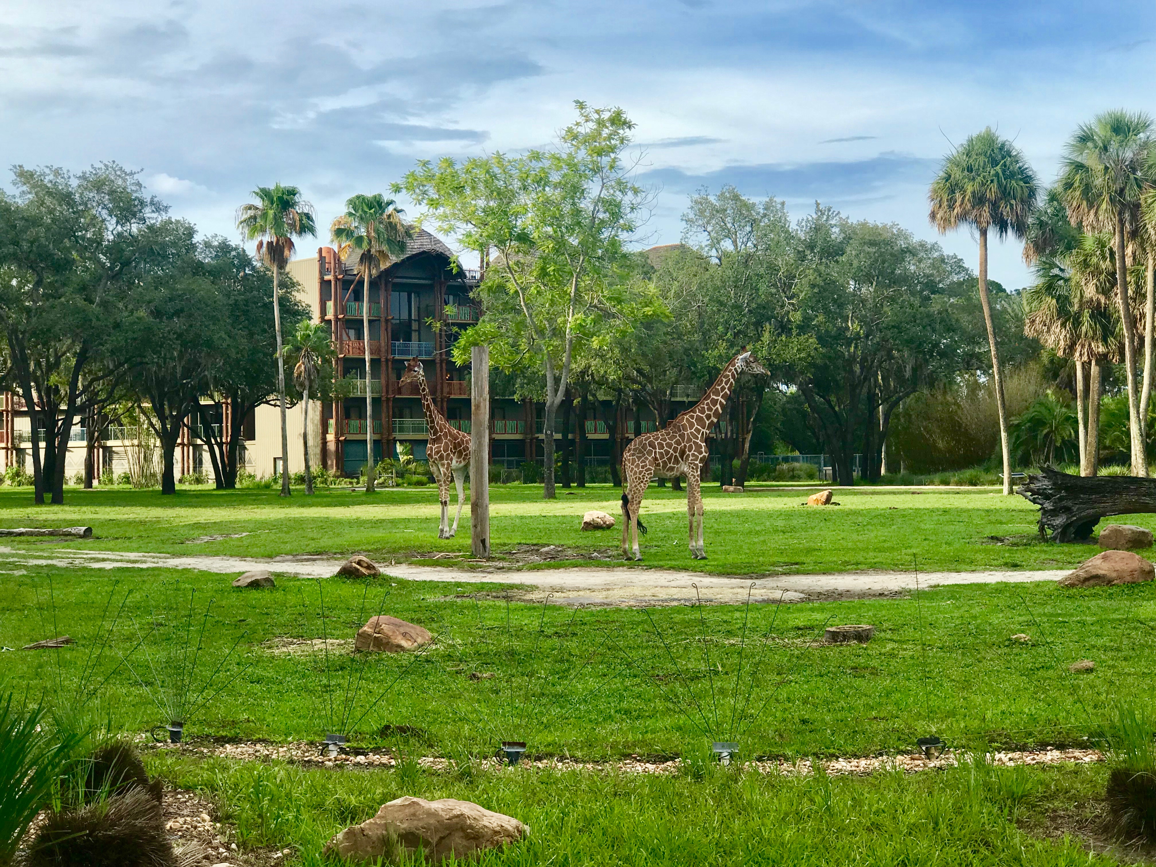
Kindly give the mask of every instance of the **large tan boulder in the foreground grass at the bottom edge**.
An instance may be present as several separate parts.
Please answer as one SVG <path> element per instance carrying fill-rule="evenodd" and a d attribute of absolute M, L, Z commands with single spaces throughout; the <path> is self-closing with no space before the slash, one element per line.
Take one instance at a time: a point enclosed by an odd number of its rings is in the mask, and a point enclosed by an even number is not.
<path fill-rule="evenodd" d="M 443 798 L 399 798 L 377 815 L 341 831 L 325 845 L 325 854 L 351 861 L 394 862 L 422 850 L 425 860 L 440 864 L 453 857 L 517 843 L 529 828 L 517 818 L 492 813 L 469 801 Z"/>

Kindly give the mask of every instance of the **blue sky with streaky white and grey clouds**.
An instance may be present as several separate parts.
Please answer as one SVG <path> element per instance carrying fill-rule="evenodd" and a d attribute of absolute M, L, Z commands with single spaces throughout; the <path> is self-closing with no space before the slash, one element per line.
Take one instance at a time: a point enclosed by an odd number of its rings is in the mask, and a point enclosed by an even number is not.
<path fill-rule="evenodd" d="M 1156 113 L 1154 72 L 1151 0 L 15 0 L 0 163 L 116 161 L 235 239 L 254 186 L 295 184 L 324 235 L 415 161 L 543 146 L 584 99 L 637 124 L 644 245 L 733 184 L 794 217 L 818 200 L 898 223 L 975 268 L 975 238 L 927 221 L 953 144 L 995 127 L 1051 183 L 1077 124 Z M 1029 281 L 1017 243 L 993 245 L 991 276 Z"/>

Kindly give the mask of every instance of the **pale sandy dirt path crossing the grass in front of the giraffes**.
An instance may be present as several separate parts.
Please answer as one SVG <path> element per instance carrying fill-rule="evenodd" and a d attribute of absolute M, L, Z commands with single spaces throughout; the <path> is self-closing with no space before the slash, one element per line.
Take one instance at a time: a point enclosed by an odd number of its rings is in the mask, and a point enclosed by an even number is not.
<path fill-rule="evenodd" d="M 327 556 L 282 556 L 273 558 L 227 556 L 177 556 L 170 554 L 128 554 L 118 551 L 54 550 L 51 554 L 16 550 L 0 546 L 0 568 L 17 565 L 61 569 L 197 569 L 223 575 L 251 569 L 268 569 L 302 578 L 327 578 L 336 572 L 340 560 Z M 13 571 L 10 568 L 7 571 Z M 398 578 L 415 581 L 444 581 L 460 587 L 470 584 L 519 584 L 538 598 L 553 593 L 554 601 L 571 605 L 681 605 L 694 601 L 697 592 L 704 601 L 739 602 L 783 599 L 872 599 L 905 594 L 916 585 L 912 572 L 837 572 L 831 575 L 791 575 L 776 577 L 719 576 L 681 572 L 673 569 L 639 566 L 570 566 L 535 570 L 462 570 L 452 566 L 424 566 L 398 563 L 385 566 Z M 946 584 L 991 584 L 996 581 L 1057 580 L 1068 570 L 1025 572 L 925 572 L 921 587 Z"/>

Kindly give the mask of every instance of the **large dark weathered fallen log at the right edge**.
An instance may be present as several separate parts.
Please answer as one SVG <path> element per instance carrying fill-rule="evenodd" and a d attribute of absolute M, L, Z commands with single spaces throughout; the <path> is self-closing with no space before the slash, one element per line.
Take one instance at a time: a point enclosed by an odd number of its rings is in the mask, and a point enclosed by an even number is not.
<path fill-rule="evenodd" d="M 1102 518 L 1156 512 L 1156 479 L 1134 475 L 1079 476 L 1044 467 L 1017 491 L 1039 506 L 1039 535 L 1054 542 L 1081 542 Z"/>

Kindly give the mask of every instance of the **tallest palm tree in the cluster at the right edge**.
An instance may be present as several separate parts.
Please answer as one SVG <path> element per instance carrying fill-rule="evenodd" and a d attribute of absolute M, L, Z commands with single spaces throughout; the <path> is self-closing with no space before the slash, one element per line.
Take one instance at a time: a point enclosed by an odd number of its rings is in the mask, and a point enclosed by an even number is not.
<path fill-rule="evenodd" d="M 1128 297 L 1128 236 L 1139 229 L 1140 198 L 1148 179 L 1153 120 L 1124 110 L 1105 111 L 1073 133 L 1057 181 L 1072 222 L 1084 231 L 1107 231 L 1116 247 L 1116 289 L 1124 332 L 1124 366 L 1128 385 L 1128 431 L 1132 474 L 1148 475 L 1136 388 L 1136 327 Z"/>

